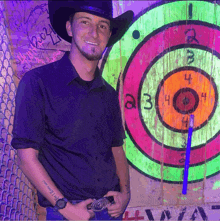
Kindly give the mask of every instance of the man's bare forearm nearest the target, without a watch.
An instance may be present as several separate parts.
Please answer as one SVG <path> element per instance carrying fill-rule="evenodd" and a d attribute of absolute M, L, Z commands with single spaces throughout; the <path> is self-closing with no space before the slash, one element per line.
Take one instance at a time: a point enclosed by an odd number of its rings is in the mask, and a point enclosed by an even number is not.
<path fill-rule="evenodd" d="M 113 147 L 112 153 L 114 155 L 117 175 L 120 180 L 121 192 L 130 195 L 130 179 L 129 179 L 129 169 L 128 162 L 125 156 L 123 147 Z"/>

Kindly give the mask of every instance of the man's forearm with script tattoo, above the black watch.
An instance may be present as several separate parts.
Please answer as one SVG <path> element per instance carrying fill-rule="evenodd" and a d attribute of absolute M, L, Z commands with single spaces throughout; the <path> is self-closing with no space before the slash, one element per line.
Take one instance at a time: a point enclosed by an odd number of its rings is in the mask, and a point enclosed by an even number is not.
<path fill-rule="evenodd" d="M 32 161 L 23 161 L 19 164 L 19 167 L 29 181 L 53 206 L 58 199 L 64 197 L 37 158 Z"/>

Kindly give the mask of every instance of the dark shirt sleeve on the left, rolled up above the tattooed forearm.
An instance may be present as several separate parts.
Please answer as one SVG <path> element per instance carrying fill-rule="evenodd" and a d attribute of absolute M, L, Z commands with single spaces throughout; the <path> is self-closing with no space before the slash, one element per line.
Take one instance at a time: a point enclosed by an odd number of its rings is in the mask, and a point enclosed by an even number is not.
<path fill-rule="evenodd" d="M 45 133 L 45 108 L 42 81 L 31 72 L 18 85 L 15 98 L 13 139 L 15 149 L 39 150 Z"/>

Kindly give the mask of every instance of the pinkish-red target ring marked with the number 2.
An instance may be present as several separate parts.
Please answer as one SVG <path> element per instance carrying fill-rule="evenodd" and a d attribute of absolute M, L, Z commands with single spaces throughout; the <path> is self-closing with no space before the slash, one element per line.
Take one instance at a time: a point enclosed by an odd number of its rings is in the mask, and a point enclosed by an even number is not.
<path fill-rule="evenodd" d="M 139 49 L 129 65 L 123 87 L 125 101 L 127 99 L 126 94 L 131 94 L 138 103 L 139 85 L 141 84 L 143 73 L 147 67 L 153 59 L 160 55 L 164 50 L 173 46 L 187 44 L 185 31 L 189 29 L 195 29 L 197 36 L 196 39 L 199 41 L 199 45 L 203 45 L 208 48 L 214 47 L 213 50 L 220 53 L 220 38 L 215 37 L 220 36 L 220 31 L 211 27 L 193 24 L 179 25 L 167 28 L 163 32 L 155 34 Z M 213 41 L 215 41 L 214 45 Z M 197 43 L 196 41 L 193 41 L 191 44 Z M 140 61 L 142 62 L 140 63 Z M 138 87 L 135 87 L 135 85 L 138 85 Z M 142 152 L 146 153 L 148 157 L 153 158 L 155 161 L 160 162 L 161 153 L 163 151 L 163 160 L 165 164 L 170 165 L 170 162 L 172 162 L 172 165 L 174 166 L 184 165 L 184 160 L 182 159 L 185 151 L 172 150 L 168 147 L 163 148 L 160 144 L 153 141 L 142 125 L 137 107 L 138 105 L 136 105 L 136 108 L 132 109 L 125 108 L 125 120 L 133 140 L 141 148 Z M 218 154 L 220 152 L 219 142 L 220 136 L 217 136 L 214 140 L 206 144 L 206 147 L 204 145 L 200 148 L 192 148 L 190 154 L 190 165 L 198 164 L 205 160 L 207 161 Z"/>

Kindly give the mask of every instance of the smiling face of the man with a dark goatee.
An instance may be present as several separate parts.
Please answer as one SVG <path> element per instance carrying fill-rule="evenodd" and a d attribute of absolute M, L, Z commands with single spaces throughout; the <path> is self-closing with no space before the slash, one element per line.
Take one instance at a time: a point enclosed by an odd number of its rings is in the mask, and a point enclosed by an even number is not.
<path fill-rule="evenodd" d="M 67 21 L 72 48 L 90 61 L 100 60 L 111 36 L 110 21 L 86 12 L 77 12 L 73 23 Z"/>

